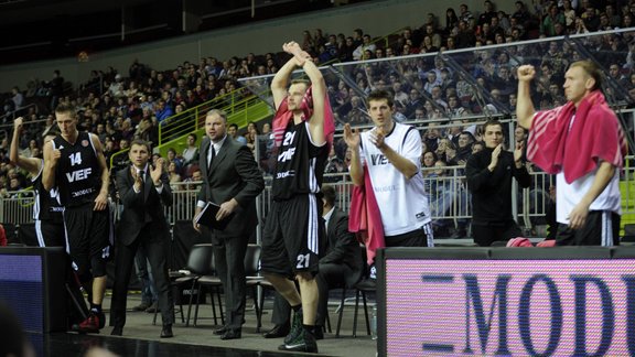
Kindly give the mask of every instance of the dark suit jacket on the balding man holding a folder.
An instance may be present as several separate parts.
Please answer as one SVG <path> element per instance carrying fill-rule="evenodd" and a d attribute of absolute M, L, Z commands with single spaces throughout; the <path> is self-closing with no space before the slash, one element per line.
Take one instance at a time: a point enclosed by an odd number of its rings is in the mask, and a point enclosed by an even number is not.
<path fill-rule="evenodd" d="M 238 207 L 228 218 L 227 227 L 223 231 L 216 230 L 215 232 L 219 237 L 250 234 L 258 224 L 256 197 L 265 188 L 265 180 L 258 169 L 258 163 L 248 147 L 227 136 L 223 147 L 216 153 L 212 166 L 207 167 L 209 145 L 209 138 L 204 138 L 198 158 L 203 185 L 197 199 L 220 205 L 235 198 L 238 202 Z"/>

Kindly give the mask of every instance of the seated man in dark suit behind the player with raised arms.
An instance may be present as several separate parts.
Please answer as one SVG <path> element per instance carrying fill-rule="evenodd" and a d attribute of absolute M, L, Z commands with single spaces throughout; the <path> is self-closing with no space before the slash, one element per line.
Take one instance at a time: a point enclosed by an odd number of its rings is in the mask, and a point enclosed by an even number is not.
<path fill-rule="evenodd" d="M 358 255 L 358 242 L 355 235 L 348 231 L 348 216 L 335 208 L 337 194 L 330 185 L 322 186 L 323 214 L 326 226 L 326 247 L 321 247 L 324 256 L 320 258 L 320 272 L 315 277 L 320 298 L 318 316 L 313 334 L 316 339 L 323 338 L 323 326 L 329 314 L 329 290 L 340 286 L 353 286 L 362 278 L 364 262 Z M 284 337 L 289 333 L 291 306 L 282 296 L 276 294 L 272 322 L 276 326 L 265 333 L 265 338 Z"/>

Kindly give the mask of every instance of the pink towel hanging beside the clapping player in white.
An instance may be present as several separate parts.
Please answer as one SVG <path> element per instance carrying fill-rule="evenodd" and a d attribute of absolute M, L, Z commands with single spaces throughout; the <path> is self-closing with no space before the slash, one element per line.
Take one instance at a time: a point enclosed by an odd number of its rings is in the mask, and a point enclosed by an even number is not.
<path fill-rule="evenodd" d="M 366 245 L 368 266 L 375 261 L 377 249 L 386 247 L 384 240 L 384 224 L 379 206 L 370 184 L 370 175 L 364 165 L 364 186 L 354 186 L 348 214 L 348 230 L 356 234 L 357 239 Z"/>

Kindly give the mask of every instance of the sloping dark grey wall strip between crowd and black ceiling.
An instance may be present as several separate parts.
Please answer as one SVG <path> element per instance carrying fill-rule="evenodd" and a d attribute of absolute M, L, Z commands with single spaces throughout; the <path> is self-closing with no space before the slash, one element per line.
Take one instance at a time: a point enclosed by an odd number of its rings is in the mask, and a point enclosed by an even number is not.
<path fill-rule="evenodd" d="M 249 52 L 265 54 L 279 52 L 284 41 L 302 40 L 302 32 L 322 29 L 325 33 L 352 35 L 359 28 L 372 36 L 386 35 L 407 25 L 420 26 L 428 13 L 434 13 L 445 25 L 445 10 L 459 13 L 461 3 L 467 4 L 475 17 L 483 11 L 484 0 L 377 0 L 360 4 L 333 8 L 279 20 L 260 21 L 235 28 L 200 32 L 164 41 L 136 45 L 101 53 L 89 53 L 89 62 L 76 57 L 23 63 L 0 67 L 0 91 L 10 91 L 15 85 L 24 87 L 31 78 L 49 80 L 60 69 L 65 80 L 74 85 L 88 79 L 90 71 L 115 67 L 123 75 L 134 58 L 154 69 L 175 68 L 184 61 L 198 63 L 198 58 L 214 56 L 220 61 L 232 56 L 245 57 Z M 514 12 L 514 1 L 494 0 L 496 10 Z M 80 34 L 77 34 L 79 37 Z"/>

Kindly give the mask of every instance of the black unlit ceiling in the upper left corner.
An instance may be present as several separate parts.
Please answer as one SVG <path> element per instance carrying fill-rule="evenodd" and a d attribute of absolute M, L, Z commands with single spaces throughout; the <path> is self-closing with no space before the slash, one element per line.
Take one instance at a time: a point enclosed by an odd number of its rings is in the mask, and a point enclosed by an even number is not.
<path fill-rule="evenodd" d="M 85 50 L 108 50 L 332 6 L 331 0 L 0 0 L 0 33 L 6 34 L 0 65 L 74 56 Z M 185 12 L 198 21 L 183 23 Z"/>

